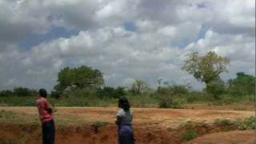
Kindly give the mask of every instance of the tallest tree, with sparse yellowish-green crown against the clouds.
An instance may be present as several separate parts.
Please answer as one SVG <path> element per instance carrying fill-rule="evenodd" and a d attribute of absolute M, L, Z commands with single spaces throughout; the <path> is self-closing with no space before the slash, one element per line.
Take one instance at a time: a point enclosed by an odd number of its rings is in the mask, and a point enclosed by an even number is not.
<path fill-rule="evenodd" d="M 228 72 L 226 65 L 230 64 L 229 58 L 218 56 L 214 51 L 210 51 L 205 56 L 199 56 L 198 52 L 190 54 L 190 58 L 185 61 L 182 70 L 193 74 L 198 81 L 206 83 L 206 91 L 209 91 L 209 84 L 217 78 L 219 74 Z"/>

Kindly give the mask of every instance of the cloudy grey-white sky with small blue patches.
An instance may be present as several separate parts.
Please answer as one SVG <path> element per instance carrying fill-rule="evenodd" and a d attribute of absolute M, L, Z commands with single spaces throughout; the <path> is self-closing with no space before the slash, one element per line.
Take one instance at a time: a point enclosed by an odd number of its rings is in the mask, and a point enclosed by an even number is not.
<path fill-rule="evenodd" d="M 202 88 L 181 70 L 214 50 L 254 74 L 254 0 L 0 0 L 0 89 L 51 90 L 65 66 L 92 66 L 107 86 L 134 78 Z"/>

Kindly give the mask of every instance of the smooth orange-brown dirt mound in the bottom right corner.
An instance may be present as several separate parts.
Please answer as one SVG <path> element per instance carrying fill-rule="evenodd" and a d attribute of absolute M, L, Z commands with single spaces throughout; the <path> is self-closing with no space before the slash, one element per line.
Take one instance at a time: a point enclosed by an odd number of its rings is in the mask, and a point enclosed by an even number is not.
<path fill-rule="evenodd" d="M 219 132 L 206 134 L 202 137 L 195 138 L 184 144 L 255 144 L 256 133 L 253 130 L 234 130 L 229 132 Z"/>

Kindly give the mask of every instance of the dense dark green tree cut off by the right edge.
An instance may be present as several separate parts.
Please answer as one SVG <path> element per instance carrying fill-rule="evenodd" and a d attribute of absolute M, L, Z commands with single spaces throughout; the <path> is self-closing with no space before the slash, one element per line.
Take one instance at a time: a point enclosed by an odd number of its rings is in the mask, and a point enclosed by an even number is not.
<path fill-rule="evenodd" d="M 237 95 L 254 94 L 256 78 L 243 72 L 239 72 L 236 75 L 237 78 L 228 81 L 228 91 Z"/>

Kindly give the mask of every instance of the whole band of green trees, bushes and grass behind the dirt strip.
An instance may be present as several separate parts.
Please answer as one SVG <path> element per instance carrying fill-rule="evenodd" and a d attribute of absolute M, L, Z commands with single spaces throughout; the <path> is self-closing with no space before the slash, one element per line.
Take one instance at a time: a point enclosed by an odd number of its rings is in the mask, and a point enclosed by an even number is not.
<path fill-rule="evenodd" d="M 227 72 L 230 60 L 214 52 L 205 56 L 190 54 L 182 70 L 206 83 L 205 90 L 193 90 L 190 84 L 170 85 L 158 79 L 153 88 L 142 79 L 134 79 L 127 87 L 104 86 L 102 72 L 88 66 L 65 67 L 58 73 L 57 84 L 50 92 L 54 106 L 116 106 L 118 98 L 126 96 L 134 107 L 182 108 L 190 103 L 227 105 L 254 102 L 256 78 L 238 72 L 236 78 L 224 82 L 219 74 Z M 0 91 L 0 106 L 34 106 L 37 90 L 17 87 Z"/>

